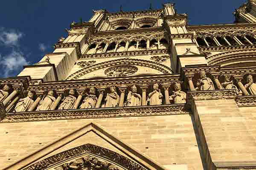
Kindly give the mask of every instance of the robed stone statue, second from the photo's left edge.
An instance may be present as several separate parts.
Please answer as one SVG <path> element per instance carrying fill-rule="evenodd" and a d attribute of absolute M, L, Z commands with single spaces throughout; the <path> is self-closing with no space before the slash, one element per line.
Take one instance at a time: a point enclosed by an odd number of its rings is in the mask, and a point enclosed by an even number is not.
<path fill-rule="evenodd" d="M 19 99 L 17 105 L 13 112 L 24 112 L 28 111 L 31 105 L 33 104 L 34 93 L 32 91 L 28 92 L 28 95 L 24 99 Z"/>

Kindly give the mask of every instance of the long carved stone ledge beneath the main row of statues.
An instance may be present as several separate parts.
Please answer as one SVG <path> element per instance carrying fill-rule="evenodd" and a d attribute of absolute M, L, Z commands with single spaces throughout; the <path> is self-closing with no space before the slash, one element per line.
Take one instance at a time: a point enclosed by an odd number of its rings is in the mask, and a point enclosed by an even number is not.
<path fill-rule="evenodd" d="M 72 109 L 55 111 L 33 111 L 20 113 L 6 113 L 3 122 L 32 122 L 63 119 L 92 119 L 111 118 L 124 116 L 160 116 L 190 114 L 190 110 L 184 104 L 179 105 L 154 105 L 140 107 L 94 108 Z"/>

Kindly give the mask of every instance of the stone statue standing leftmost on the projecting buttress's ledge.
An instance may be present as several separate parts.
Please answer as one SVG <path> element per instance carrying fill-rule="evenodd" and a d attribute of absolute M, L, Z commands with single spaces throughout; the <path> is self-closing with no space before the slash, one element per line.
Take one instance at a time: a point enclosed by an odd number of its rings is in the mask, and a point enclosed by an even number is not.
<path fill-rule="evenodd" d="M 213 82 L 210 78 L 206 77 L 206 73 L 205 71 L 202 71 L 200 73 L 200 78 L 196 84 L 196 86 L 198 87 L 198 90 L 201 91 L 207 91 L 207 90 L 214 90 L 214 85 Z"/>

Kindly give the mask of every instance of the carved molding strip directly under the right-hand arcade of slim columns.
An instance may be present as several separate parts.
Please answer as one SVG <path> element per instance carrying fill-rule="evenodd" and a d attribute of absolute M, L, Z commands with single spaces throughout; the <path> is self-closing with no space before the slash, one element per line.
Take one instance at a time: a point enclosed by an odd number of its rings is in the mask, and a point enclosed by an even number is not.
<path fill-rule="evenodd" d="M 237 51 L 237 50 L 253 50 L 256 49 L 256 45 L 236 45 L 236 46 L 213 46 L 213 47 L 198 47 L 200 52 L 211 51 Z"/>

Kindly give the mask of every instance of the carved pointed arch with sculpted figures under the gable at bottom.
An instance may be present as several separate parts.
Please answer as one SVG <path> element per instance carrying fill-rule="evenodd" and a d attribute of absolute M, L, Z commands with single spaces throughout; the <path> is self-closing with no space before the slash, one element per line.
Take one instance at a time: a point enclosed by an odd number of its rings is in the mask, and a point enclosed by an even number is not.
<path fill-rule="evenodd" d="M 119 153 L 93 144 L 84 144 L 78 147 L 74 147 L 70 150 L 57 153 L 46 159 L 38 161 L 37 163 L 32 164 L 29 167 L 24 168 L 23 170 L 45 170 L 54 166 L 55 164 L 65 162 L 72 158 L 76 158 L 77 156 L 82 156 L 85 153 L 92 153 L 97 157 L 107 158 L 127 170 L 147 170 L 145 167 L 141 166 L 137 162 L 132 161 L 131 159 L 128 159 L 127 157 L 122 156 Z M 62 170 L 77 170 L 77 168 L 79 167 L 89 167 L 93 168 L 93 170 L 94 168 L 101 170 L 120 170 L 116 165 L 108 163 L 106 161 L 101 161 L 93 156 L 84 156 L 81 159 L 71 161 L 70 163 L 63 163 L 59 167 L 62 167 Z"/>

